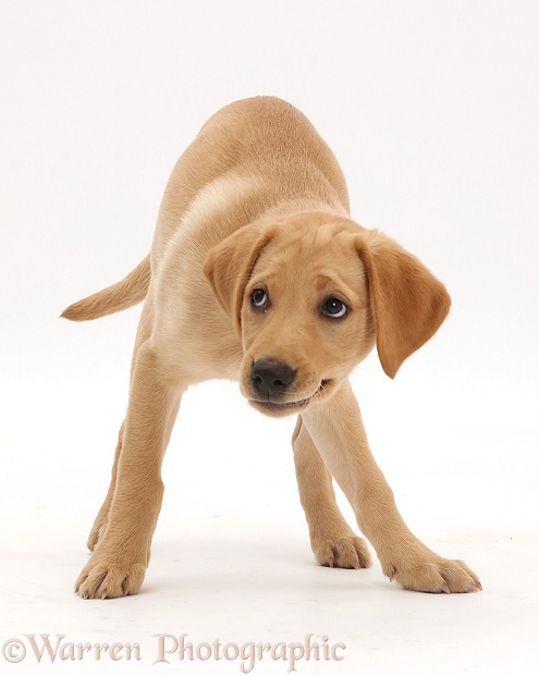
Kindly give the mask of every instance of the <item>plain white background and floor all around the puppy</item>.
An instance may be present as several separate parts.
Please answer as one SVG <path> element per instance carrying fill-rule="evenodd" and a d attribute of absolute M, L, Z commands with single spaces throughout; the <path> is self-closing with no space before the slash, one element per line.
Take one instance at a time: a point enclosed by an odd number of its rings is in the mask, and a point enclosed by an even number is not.
<path fill-rule="evenodd" d="M 532 674 L 539 654 L 539 11 L 534 2 L 309 0 L 0 3 L 0 642 L 138 642 L 143 660 L 5 673 L 237 674 L 152 666 L 152 635 L 347 646 L 299 674 Z M 72 592 L 108 484 L 138 308 L 62 309 L 146 254 L 170 170 L 205 120 L 290 100 L 339 158 L 353 217 L 446 284 L 451 315 L 395 381 L 354 390 L 413 530 L 485 591 L 405 592 L 315 565 L 292 420 L 233 383 L 184 397 L 138 597 Z M 346 512 L 353 518 L 350 512 Z M 285 674 L 268 660 L 255 674 Z"/>

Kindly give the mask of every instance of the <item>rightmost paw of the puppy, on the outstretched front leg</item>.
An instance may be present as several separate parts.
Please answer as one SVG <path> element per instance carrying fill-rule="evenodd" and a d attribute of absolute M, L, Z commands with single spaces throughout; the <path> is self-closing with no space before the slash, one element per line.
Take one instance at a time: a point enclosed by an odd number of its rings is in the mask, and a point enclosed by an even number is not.
<path fill-rule="evenodd" d="M 430 553 L 420 560 L 383 565 L 390 580 L 404 589 L 430 593 L 468 593 L 482 589 L 477 575 L 463 561 L 451 561 Z"/>

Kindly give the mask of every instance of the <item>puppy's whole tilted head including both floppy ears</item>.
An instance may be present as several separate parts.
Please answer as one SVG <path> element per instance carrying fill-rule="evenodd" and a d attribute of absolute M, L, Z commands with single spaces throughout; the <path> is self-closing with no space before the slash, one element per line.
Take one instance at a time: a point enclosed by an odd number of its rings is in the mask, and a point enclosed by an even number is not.
<path fill-rule="evenodd" d="M 205 273 L 242 340 L 242 393 L 272 416 L 331 396 L 375 342 L 393 378 L 450 305 L 399 244 L 322 211 L 240 229 Z"/>

